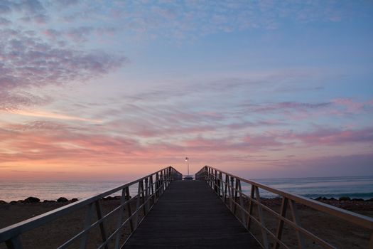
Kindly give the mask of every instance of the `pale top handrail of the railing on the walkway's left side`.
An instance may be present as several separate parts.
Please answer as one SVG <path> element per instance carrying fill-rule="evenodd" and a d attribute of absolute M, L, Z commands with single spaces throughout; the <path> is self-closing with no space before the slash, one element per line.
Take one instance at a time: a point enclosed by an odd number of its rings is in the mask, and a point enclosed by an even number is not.
<path fill-rule="evenodd" d="M 160 169 L 152 174 L 148 174 L 147 176 L 141 177 L 140 179 L 136 179 L 134 181 L 131 181 L 129 183 L 123 184 L 121 186 L 114 187 L 113 189 L 109 189 L 107 191 L 102 192 L 101 194 L 97 194 L 95 196 L 91 196 L 88 198 L 84 198 L 80 201 L 76 201 L 74 203 L 67 204 L 66 206 L 56 208 L 52 211 L 49 211 L 47 213 L 40 214 L 39 216 L 35 216 L 33 218 L 28 218 L 25 221 L 21 221 L 18 223 L 15 223 L 11 226 L 7 226 L 5 228 L 0 229 L 0 243 L 11 240 L 12 238 L 21 235 L 22 233 L 25 233 L 26 231 L 30 231 L 33 228 L 37 228 L 38 226 L 43 226 L 45 223 L 48 223 L 50 221 L 54 221 L 57 218 L 60 218 L 61 216 L 65 216 L 67 213 L 71 213 L 73 211 L 77 211 L 79 208 L 82 208 L 84 206 L 90 205 L 94 203 L 95 201 L 99 201 L 101 198 L 105 196 L 109 196 L 110 194 L 114 194 L 118 191 L 124 190 L 126 188 L 129 188 L 129 186 L 132 186 L 134 184 L 138 184 L 141 181 L 144 181 L 145 179 L 150 179 L 153 176 L 156 176 L 158 174 L 163 173 L 163 171 L 166 173 L 167 170 L 170 170 L 175 172 L 177 176 L 181 176 L 180 172 L 178 172 L 175 168 L 172 166 L 167 166 L 163 169 Z M 155 183 L 154 183 L 155 184 Z M 150 186 L 149 186 L 150 188 Z M 141 192 L 144 193 L 144 190 Z M 138 194 L 139 195 L 139 194 Z M 137 198 L 140 198 L 140 196 L 137 196 Z"/>

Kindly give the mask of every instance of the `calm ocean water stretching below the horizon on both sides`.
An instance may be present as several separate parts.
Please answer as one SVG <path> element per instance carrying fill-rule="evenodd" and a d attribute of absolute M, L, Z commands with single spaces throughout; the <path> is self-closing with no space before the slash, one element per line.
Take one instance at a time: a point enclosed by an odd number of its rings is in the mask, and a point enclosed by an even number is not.
<path fill-rule="evenodd" d="M 310 198 L 318 196 L 373 198 L 373 176 L 253 179 L 253 181 Z M 56 200 L 61 196 L 81 199 L 125 183 L 126 181 L 0 181 L 0 200 L 17 201 L 29 196 L 38 197 L 42 201 Z M 249 194 L 249 186 L 244 185 L 242 189 Z M 134 195 L 137 186 L 130 191 L 131 195 Z M 261 196 L 275 197 L 276 195 L 261 191 Z"/>

